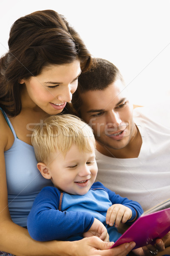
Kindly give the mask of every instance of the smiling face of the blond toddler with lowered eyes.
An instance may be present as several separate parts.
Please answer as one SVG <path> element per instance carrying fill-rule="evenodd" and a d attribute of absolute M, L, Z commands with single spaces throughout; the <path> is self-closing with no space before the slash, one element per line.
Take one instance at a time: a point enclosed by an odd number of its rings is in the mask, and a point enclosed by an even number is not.
<path fill-rule="evenodd" d="M 51 180 L 58 189 L 73 195 L 85 195 L 94 183 L 97 175 L 95 148 L 92 152 L 81 152 L 72 145 L 65 157 L 58 151 L 48 164 Z"/>

